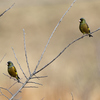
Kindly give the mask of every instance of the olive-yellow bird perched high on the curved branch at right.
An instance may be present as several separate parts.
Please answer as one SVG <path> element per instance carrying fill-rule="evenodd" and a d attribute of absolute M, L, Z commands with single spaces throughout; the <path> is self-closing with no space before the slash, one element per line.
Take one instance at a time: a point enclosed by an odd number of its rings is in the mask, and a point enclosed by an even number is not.
<path fill-rule="evenodd" d="M 88 24 L 86 23 L 86 20 L 85 20 L 84 18 L 80 18 L 79 22 L 80 22 L 80 25 L 79 25 L 80 31 L 81 31 L 83 34 L 88 34 L 89 37 L 93 37 L 93 36 L 90 34 L 90 29 L 89 29 Z"/>

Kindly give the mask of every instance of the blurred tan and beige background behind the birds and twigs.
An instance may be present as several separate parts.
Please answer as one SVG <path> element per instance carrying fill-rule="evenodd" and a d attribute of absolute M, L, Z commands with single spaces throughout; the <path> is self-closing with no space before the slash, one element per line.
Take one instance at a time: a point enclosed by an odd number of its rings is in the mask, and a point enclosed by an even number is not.
<path fill-rule="evenodd" d="M 44 50 L 44 47 L 73 0 L 0 0 L 0 14 L 13 3 L 14 7 L 0 17 L 0 87 L 9 88 L 15 81 L 8 75 L 7 61 L 16 66 L 19 77 L 24 82 L 11 47 L 14 48 L 23 71 L 29 76 L 23 42 L 23 29 L 26 33 L 26 49 L 31 72 Z M 79 31 L 79 19 L 86 19 L 91 31 L 100 27 L 100 0 L 77 0 L 66 14 L 54 33 L 43 59 L 37 70 L 56 57 L 69 43 L 82 36 Z M 75 42 L 52 64 L 37 74 L 44 79 L 34 79 L 43 86 L 25 88 L 16 98 L 20 100 L 100 100 L 100 31 Z M 10 90 L 15 93 L 21 84 L 14 85 Z M 11 97 L 11 95 L 2 90 Z M 0 96 L 0 100 L 7 100 Z"/>

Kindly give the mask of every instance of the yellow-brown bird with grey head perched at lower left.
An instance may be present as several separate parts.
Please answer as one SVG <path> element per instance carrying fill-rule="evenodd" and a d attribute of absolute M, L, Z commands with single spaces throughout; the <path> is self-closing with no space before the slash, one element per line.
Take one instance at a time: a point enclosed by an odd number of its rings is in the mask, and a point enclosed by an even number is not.
<path fill-rule="evenodd" d="M 12 76 L 12 77 L 15 77 L 17 79 L 18 82 L 19 81 L 19 76 L 18 76 L 18 73 L 17 73 L 17 70 L 14 66 L 14 64 L 11 62 L 11 61 L 8 61 L 7 62 L 7 66 L 8 66 L 8 73 Z"/>

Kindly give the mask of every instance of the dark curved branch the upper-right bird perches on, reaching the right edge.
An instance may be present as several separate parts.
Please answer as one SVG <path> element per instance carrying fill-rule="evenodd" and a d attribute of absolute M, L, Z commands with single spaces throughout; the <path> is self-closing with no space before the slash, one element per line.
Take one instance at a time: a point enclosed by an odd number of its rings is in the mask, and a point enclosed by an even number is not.
<path fill-rule="evenodd" d="M 91 34 L 97 32 L 97 31 L 99 31 L 99 30 L 100 30 L 100 28 L 98 28 L 97 30 L 91 32 Z M 48 65 L 50 65 L 53 61 L 55 61 L 69 46 L 71 46 L 73 43 L 75 43 L 76 41 L 78 41 L 78 40 L 80 40 L 80 39 L 82 39 L 82 38 L 84 38 L 84 37 L 86 37 L 86 36 L 88 36 L 88 35 L 87 35 L 87 34 L 86 34 L 86 35 L 83 35 L 83 36 L 77 38 L 76 40 L 72 41 L 72 42 L 71 42 L 70 44 L 68 44 L 68 45 L 67 45 L 53 60 L 51 60 L 48 64 L 46 64 L 44 67 L 42 67 L 40 70 L 36 71 L 36 72 L 33 73 L 32 75 L 34 75 L 34 74 L 40 72 L 41 70 L 43 70 L 44 68 L 46 68 L 46 67 L 47 67 Z"/>

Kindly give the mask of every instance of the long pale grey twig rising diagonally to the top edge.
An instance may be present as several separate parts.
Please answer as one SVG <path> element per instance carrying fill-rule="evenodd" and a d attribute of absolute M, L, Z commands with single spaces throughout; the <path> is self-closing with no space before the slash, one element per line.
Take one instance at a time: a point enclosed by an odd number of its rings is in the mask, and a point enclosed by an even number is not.
<path fill-rule="evenodd" d="M 45 48 L 44 48 L 44 51 L 43 51 L 43 53 L 42 53 L 42 55 L 41 55 L 41 57 L 40 57 L 40 59 L 39 59 L 39 61 L 38 61 L 38 64 L 36 65 L 35 70 L 34 70 L 33 73 L 36 72 L 36 70 L 37 70 L 37 68 L 38 68 L 38 66 L 39 66 L 39 64 L 40 64 L 40 61 L 41 61 L 41 59 L 42 59 L 42 57 L 43 57 L 43 55 L 44 55 L 44 53 L 45 53 L 45 51 L 46 51 L 46 48 L 47 48 L 47 46 L 48 46 L 48 44 L 49 44 L 49 42 L 50 42 L 50 40 L 51 40 L 53 34 L 55 33 L 56 29 L 58 28 L 60 22 L 62 21 L 62 19 L 64 18 L 64 16 L 67 14 L 67 12 L 70 10 L 70 8 L 73 6 L 73 4 L 74 4 L 75 2 L 76 2 L 76 0 L 73 1 L 73 3 L 71 4 L 71 6 L 70 6 L 70 7 L 68 8 L 68 10 L 64 13 L 64 15 L 61 17 L 60 21 L 58 22 L 58 24 L 57 24 L 56 27 L 54 28 L 54 30 L 53 30 L 51 36 L 50 36 L 49 39 L 48 39 L 48 42 L 47 42 L 47 44 L 46 44 L 46 46 L 45 46 Z"/>

